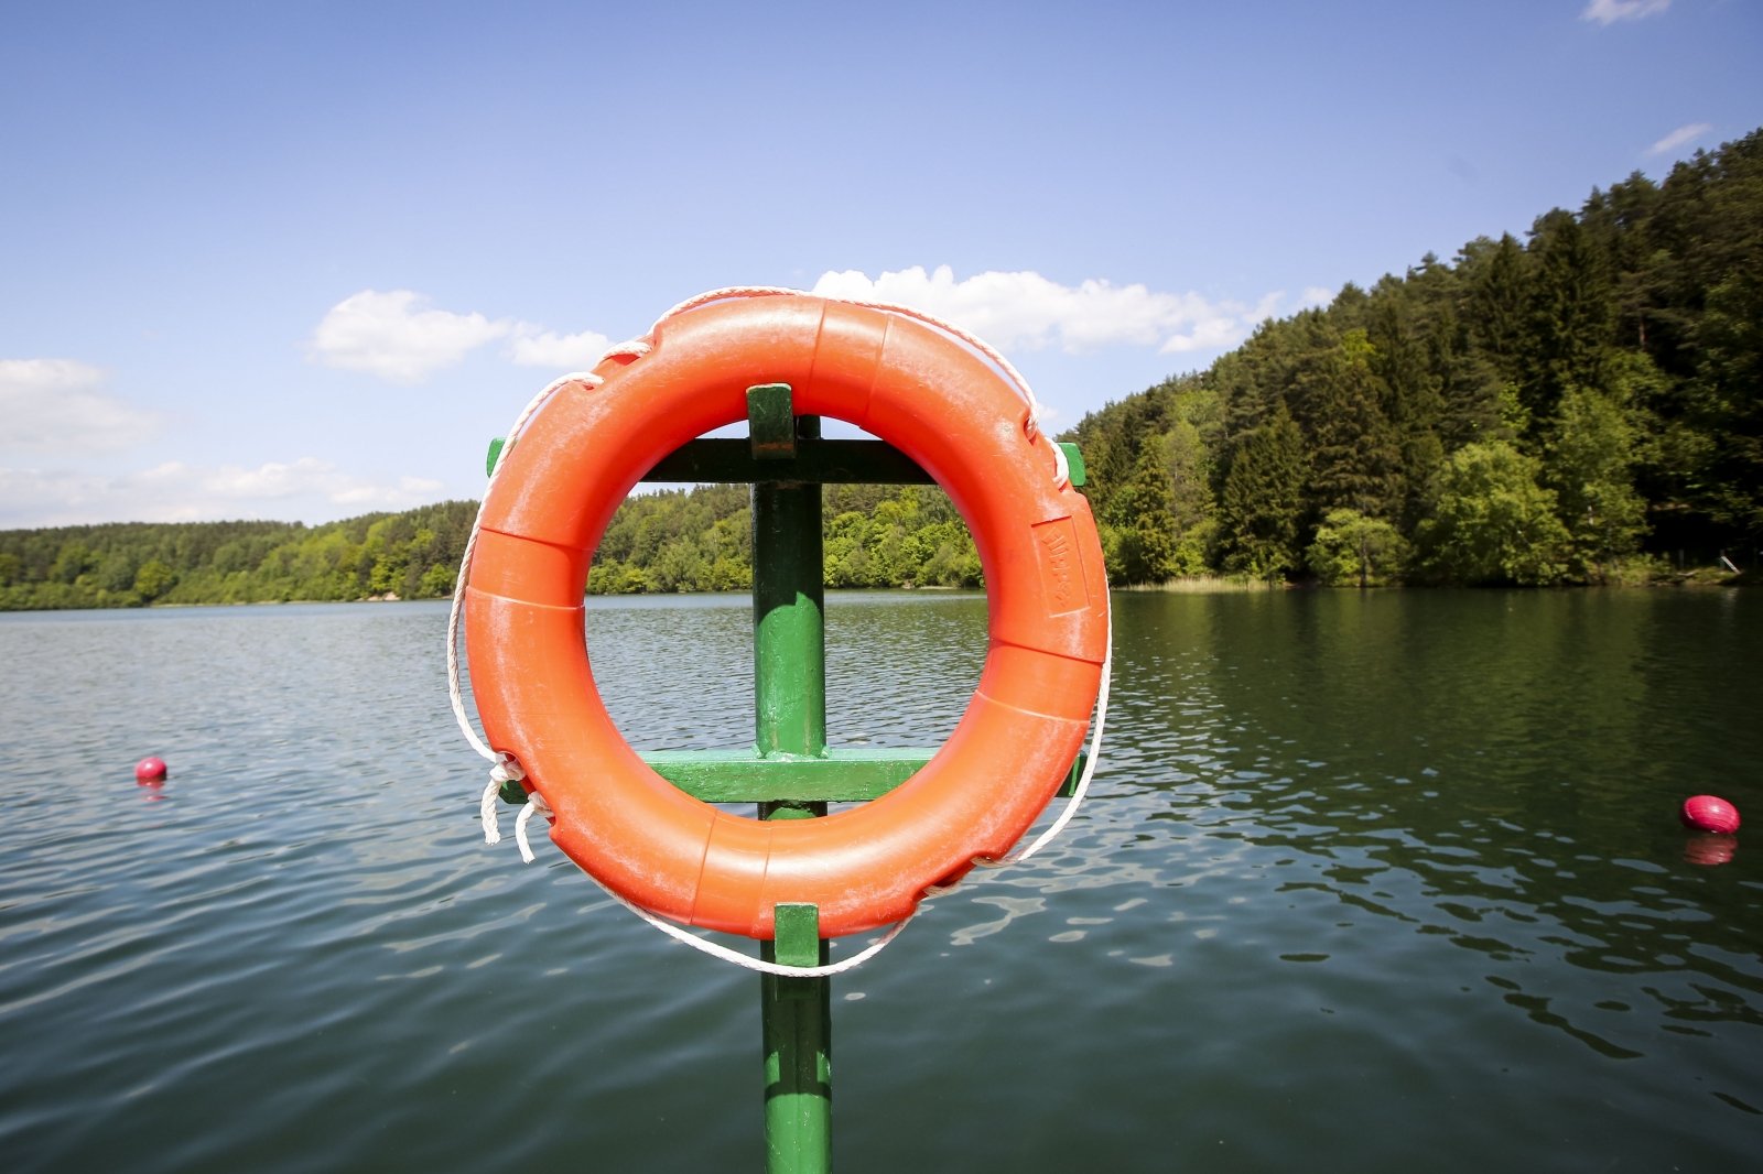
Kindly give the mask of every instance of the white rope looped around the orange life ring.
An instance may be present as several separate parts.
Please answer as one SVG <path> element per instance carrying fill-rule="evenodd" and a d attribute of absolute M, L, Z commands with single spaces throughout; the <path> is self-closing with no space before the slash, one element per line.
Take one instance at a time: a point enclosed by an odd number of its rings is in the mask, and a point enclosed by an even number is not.
<path fill-rule="evenodd" d="M 698 307 L 710 305 L 714 301 L 730 300 L 730 298 L 767 298 L 767 296 L 804 296 L 804 294 L 802 294 L 802 291 L 795 291 L 795 289 L 788 289 L 788 287 L 777 287 L 777 286 L 732 286 L 732 287 L 725 287 L 725 289 L 714 289 L 714 291 L 698 294 L 695 298 L 688 298 L 686 301 L 681 301 L 679 305 L 672 307 L 666 314 L 663 314 L 659 319 L 656 319 L 656 323 L 651 328 L 649 335 L 645 335 L 642 338 L 633 338 L 633 340 L 617 344 L 614 347 L 608 347 L 599 356 L 599 360 L 596 360 L 594 365 L 598 367 L 598 365 L 605 363 L 606 360 L 615 360 L 615 358 L 624 358 L 628 361 L 635 361 L 635 360 L 649 354 L 651 349 L 652 349 L 652 346 L 654 346 L 652 340 L 654 340 L 656 331 L 668 319 L 677 317 L 681 314 L 688 314 L 688 312 L 691 312 L 691 310 L 695 310 Z M 915 310 L 911 307 L 903 307 L 903 305 L 896 305 L 896 303 L 883 303 L 883 301 L 859 301 L 859 300 L 853 300 L 853 298 L 825 298 L 825 300 L 827 301 L 841 301 L 841 303 L 846 303 L 846 305 L 864 307 L 864 308 L 889 312 L 889 314 L 899 314 L 903 317 L 915 319 L 919 323 L 933 326 L 934 330 L 943 331 L 945 335 L 950 335 L 950 337 L 961 340 L 963 344 L 966 344 L 968 347 L 971 347 L 977 354 L 984 356 L 993 367 L 996 367 L 1008 379 L 1008 383 L 1023 395 L 1023 398 L 1028 404 L 1028 418 L 1024 421 L 1024 432 L 1026 432 L 1026 435 L 1030 439 L 1035 439 L 1037 434 L 1040 432 L 1040 404 L 1035 398 L 1033 390 L 1030 388 L 1028 381 L 1021 375 L 1021 372 L 1017 372 L 1017 368 L 1001 353 L 998 353 L 989 344 L 982 342 L 980 338 L 973 337 L 971 333 L 961 330 L 959 326 L 956 326 L 952 323 L 938 319 L 938 317 L 934 317 L 931 314 L 926 314 L 922 310 Z M 497 474 L 502 469 L 502 464 L 506 460 L 506 455 L 510 451 L 510 448 L 520 437 L 520 434 L 525 430 L 527 423 L 538 414 L 538 411 L 557 391 L 561 391 L 562 388 L 566 388 L 569 384 L 585 384 L 589 388 L 599 388 L 603 383 L 605 383 L 605 379 L 601 375 L 598 375 L 598 374 L 594 374 L 594 372 L 589 370 L 589 372 L 571 372 L 571 374 L 561 375 L 561 377 L 550 381 L 545 388 L 541 388 L 527 402 L 527 405 L 520 411 L 520 414 L 515 418 L 513 427 L 508 432 L 508 439 L 502 444 L 502 450 L 497 453 L 495 462 L 494 462 L 494 465 L 490 469 L 488 485 L 495 483 L 495 478 L 497 478 Z M 1067 465 L 1065 451 L 1058 444 L 1049 444 L 1049 448 L 1053 450 L 1053 455 L 1054 455 L 1054 460 L 1056 460 L 1056 465 L 1054 465 L 1054 485 L 1056 487 L 1065 487 L 1070 481 L 1070 471 L 1068 471 L 1068 465 Z M 485 501 L 490 495 L 488 494 L 488 485 L 487 485 L 485 495 L 483 495 Z M 467 536 L 465 550 L 464 550 L 464 554 L 460 557 L 460 569 L 458 569 L 458 576 L 457 576 L 455 587 L 453 587 L 451 610 L 448 613 L 448 636 L 446 636 L 448 638 L 448 696 L 450 696 L 450 703 L 451 703 L 451 709 L 453 709 L 455 721 L 458 723 L 460 732 L 465 735 L 465 740 L 471 744 L 471 747 L 481 758 L 485 758 L 487 762 L 492 763 L 490 779 L 488 779 L 488 784 L 485 786 L 481 800 L 480 800 L 480 820 L 483 823 L 485 843 L 497 844 L 497 843 L 501 843 L 501 830 L 499 830 L 499 825 L 497 825 L 495 806 L 499 802 L 501 786 L 506 781 L 520 781 L 520 779 L 524 779 L 525 772 L 520 767 L 520 763 L 510 753 L 492 749 L 488 746 L 488 742 L 478 733 L 478 730 L 474 728 L 474 723 L 471 721 L 471 717 L 465 712 L 464 693 L 462 693 L 462 686 L 460 686 L 460 656 L 458 656 L 460 617 L 462 617 L 462 612 L 464 612 L 465 587 L 467 587 L 469 578 L 471 578 L 471 566 L 472 566 L 472 555 L 474 555 L 474 550 L 476 550 L 476 545 L 478 545 L 480 525 L 481 525 L 481 504 L 480 504 L 480 515 L 476 518 L 472 518 L 471 534 Z M 1104 575 L 1104 585 L 1105 585 L 1105 575 Z M 1065 809 L 1026 848 L 1012 850 L 1010 853 L 1007 853 L 1001 858 L 987 858 L 984 855 L 978 855 L 978 857 L 971 858 L 973 866 L 987 867 L 987 869 L 998 869 L 998 867 L 1007 867 L 1010 864 L 1019 864 L 1023 860 L 1028 860 L 1030 857 L 1033 857 L 1035 853 L 1038 853 L 1042 848 L 1045 848 L 1054 837 L 1058 837 L 1060 832 L 1077 814 L 1077 809 L 1082 806 L 1082 802 L 1084 802 L 1084 799 L 1086 799 L 1086 795 L 1090 791 L 1090 784 L 1091 784 L 1091 779 L 1095 777 L 1097 765 L 1100 763 L 1102 739 L 1104 739 L 1104 732 L 1105 732 L 1105 726 L 1107 726 L 1107 702 L 1109 702 L 1109 686 L 1111 686 L 1111 679 L 1112 679 L 1112 617 L 1109 617 L 1109 620 L 1107 620 L 1107 640 L 1104 643 L 1104 649 L 1105 649 L 1105 652 L 1104 652 L 1104 661 L 1102 661 L 1102 666 L 1100 666 L 1100 684 L 1098 684 L 1098 689 L 1097 689 L 1097 702 L 1095 702 L 1095 710 L 1093 710 L 1093 733 L 1091 733 L 1091 739 L 1090 739 L 1088 756 L 1086 756 L 1086 762 L 1084 762 L 1084 769 L 1079 772 L 1077 786 L 1074 788 L 1072 797 L 1065 804 Z M 522 807 L 520 818 L 517 820 L 517 828 L 515 828 L 517 841 L 518 841 L 518 846 L 520 846 L 520 855 L 527 862 L 534 860 L 532 850 L 531 850 L 531 846 L 527 843 L 527 836 L 525 836 L 527 823 L 531 821 L 531 818 L 534 814 L 550 814 L 548 804 L 545 802 L 545 799 L 538 791 L 532 791 L 529 795 L 529 800 L 527 800 L 525 807 Z M 686 945 L 691 945 L 693 948 L 696 948 L 696 950 L 700 950 L 703 954 L 709 954 L 712 957 L 723 959 L 723 961 L 732 962 L 735 966 L 742 966 L 746 970 L 755 970 L 755 971 L 770 973 L 770 975 L 781 975 L 781 977 L 830 977 L 830 975 L 837 975 L 837 973 L 844 973 L 848 970 L 853 970 L 853 968 L 860 966 L 862 962 L 869 961 L 871 957 L 874 957 L 876 954 L 880 954 L 889 943 L 892 943 L 894 938 L 899 936 L 899 933 L 904 929 L 904 925 L 919 911 L 919 906 L 913 906 L 913 910 L 904 918 L 901 918 L 899 922 L 894 922 L 892 925 L 889 925 L 882 933 L 882 936 L 878 940 L 874 940 L 869 947 L 866 947 L 864 950 L 853 954 L 848 959 L 841 959 L 839 962 L 830 962 L 830 964 L 825 964 L 825 966 L 807 966 L 807 968 L 804 968 L 804 966 L 783 966 L 783 964 L 777 964 L 777 962 L 765 962 L 762 959 L 755 959 L 755 957 L 751 957 L 748 954 L 740 954 L 740 952 L 732 950 L 732 948 L 728 948 L 728 947 L 725 947 L 725 945 L 721 945 L 718 941 L 712 941 L 712 940 L 703 938 L 703 936 L 700 936 L 696 933 L 691 933 L 689 929 L 686 929 L 682 925 L 677 925 L 677 924 L 673 924 L 673 922 L 670 922 L 670 920 L 656 915 L 654 911 L 651 911 L 651 910 L 636 904 L 635 901 L 624 897 L 622 894 L 615 892 L 614 888 L 610 888 L 608 885 L 605 885 L 603 881 L 599 881 L 598 876 L 592 876 L 592 873 L 589 873 L 589 876 L 614 901 L 617 901 L 624 908 L 631 910 L 633 913 L 636 913 L 645 922 L 649 922 L 651 925 L 654 925 L 661 933 L 668 934 L 670 938 L 684 941 Z M 956 888 L 956 883 L 950 883 L 950 885 L 945 885 L 945 887 L 927 885 L 924 888 L 924 895 L 926 897 L 934 897 L 934 895 L 947 894 L 952 888 Z"/>

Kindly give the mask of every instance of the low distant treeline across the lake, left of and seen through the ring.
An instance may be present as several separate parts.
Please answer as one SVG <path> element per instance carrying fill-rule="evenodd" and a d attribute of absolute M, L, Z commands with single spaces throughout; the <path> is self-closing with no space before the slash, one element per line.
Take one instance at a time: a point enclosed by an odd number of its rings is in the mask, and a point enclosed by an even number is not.
<path fill-rule="evenodd" d="M 450 501 L 330 525 L 171 522 L 0 532 L 0 610 L 293 599 L 430 599 L 453 592 L 478 504 Z M 832 587 L 978 587 L 973 539 L 934 487 L 827 487 Z M 746 487 L 626 501 L 591 592 L 746 591 Z"/>

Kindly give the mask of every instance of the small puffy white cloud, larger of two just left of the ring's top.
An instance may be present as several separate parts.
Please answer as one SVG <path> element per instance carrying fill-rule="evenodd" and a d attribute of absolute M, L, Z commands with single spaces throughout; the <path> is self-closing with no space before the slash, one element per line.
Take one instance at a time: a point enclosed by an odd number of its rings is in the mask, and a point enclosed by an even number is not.
<path fill-rule="evenodd" d="M 312 331 L 307 354 L 326 367 L 409 384 L 515 331 L 506 319 L 427 307 L 428 300 L 409 289 L 363 289 L 330 308 Z"/>

